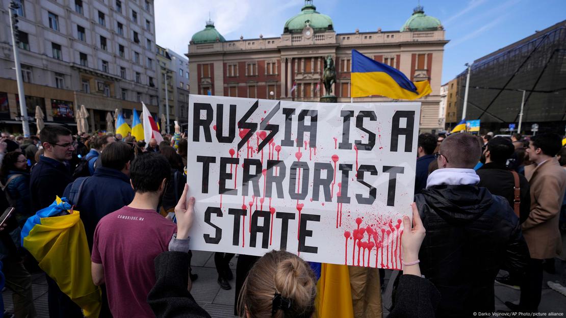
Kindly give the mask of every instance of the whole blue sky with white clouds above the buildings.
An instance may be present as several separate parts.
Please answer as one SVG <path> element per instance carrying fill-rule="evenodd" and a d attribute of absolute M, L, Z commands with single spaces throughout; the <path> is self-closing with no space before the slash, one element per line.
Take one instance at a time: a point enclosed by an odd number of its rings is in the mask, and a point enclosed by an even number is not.
<path fill-rule="evenodd" d="M 226 40 L 279 36 L 304 0 L 155 0 L 157 44 L 187 53 L 191 36 L 210 14 Z M 338 33 L 398 30 L 418 0 L 314 0 Z M 446 30 L 442 83 L 465 70 L 464 63 L 566 19 L 566 0 L 421 0 L 427 15 Z"/>

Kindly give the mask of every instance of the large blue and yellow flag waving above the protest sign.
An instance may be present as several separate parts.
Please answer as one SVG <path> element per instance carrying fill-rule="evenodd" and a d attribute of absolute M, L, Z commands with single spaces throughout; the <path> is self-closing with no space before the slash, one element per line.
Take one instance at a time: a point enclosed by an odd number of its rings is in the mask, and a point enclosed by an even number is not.
<path fill-rule="evenodd" d="M 351 97 L 381 95 L 416 100 L 432 92 L 428 81 L 410 81 L 395 68 L 352 50 Z"/>

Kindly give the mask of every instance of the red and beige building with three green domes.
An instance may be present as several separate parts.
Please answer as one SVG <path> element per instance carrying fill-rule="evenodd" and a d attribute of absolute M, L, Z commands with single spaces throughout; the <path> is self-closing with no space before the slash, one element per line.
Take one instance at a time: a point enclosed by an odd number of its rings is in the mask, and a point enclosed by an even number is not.
<path fill-rule="evenodd" d="M 322 2 L 321 2 L 322 3 Z M 379 18 L 379 17 L 378 17 Z M 376 19 L 379 21 L 379 19 Z M 195 33 L 188 46 L 192 94 L 319 101 L 324 58 L 331 55 L 336 68 L 332 93 L 338 102 L 350 102 L 351 50 L 402 71 L 410 80 L 428 80 L 433 93 L 421 98 L 421 131 L 436 131 L 439 124 L 440 80 L 444 28 L 424 14 L 422 6 L 400 24 L 400 31 L 336 33 L 332 18 L 320 12 L 312 0 L 282 22 L 279 37 L 225 38 L 212 23 Z M 258 32 L 259 33 L 259 32 Z M 371 96 L 354 102 L 385 102 Z"/>

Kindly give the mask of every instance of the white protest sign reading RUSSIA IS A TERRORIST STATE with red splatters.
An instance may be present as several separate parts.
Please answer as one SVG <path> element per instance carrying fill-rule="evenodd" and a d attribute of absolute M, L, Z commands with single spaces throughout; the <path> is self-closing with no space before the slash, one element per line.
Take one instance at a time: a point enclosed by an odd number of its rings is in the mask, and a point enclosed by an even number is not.
<path fill-rule="evenodd" d="M 190 95 L 191 247 L 400 269 L 420 106 Z"/>

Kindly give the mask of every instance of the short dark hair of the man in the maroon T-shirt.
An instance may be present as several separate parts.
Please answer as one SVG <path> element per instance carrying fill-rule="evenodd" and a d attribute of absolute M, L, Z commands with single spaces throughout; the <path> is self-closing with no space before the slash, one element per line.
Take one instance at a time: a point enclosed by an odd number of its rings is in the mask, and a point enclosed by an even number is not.
<path fill-rule="evenodd" d="M 156 192 L 163 179 L 169 180 L 171 165 L 159 153 L 138 156 L 130 166 L 130 179 L 134 191 L 138 193 Z"/>

